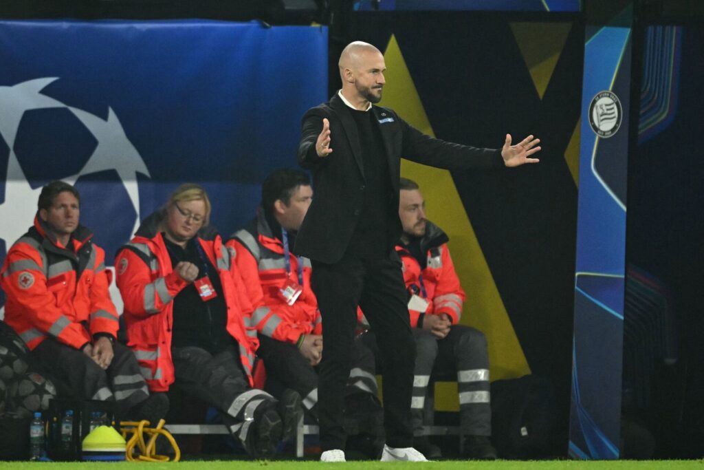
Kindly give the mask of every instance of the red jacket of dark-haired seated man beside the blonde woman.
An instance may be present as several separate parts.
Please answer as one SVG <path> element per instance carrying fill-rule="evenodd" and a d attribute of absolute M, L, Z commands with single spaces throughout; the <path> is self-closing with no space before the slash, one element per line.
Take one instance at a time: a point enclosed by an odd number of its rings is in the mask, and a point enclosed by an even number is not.
<path fill-rule="evenodd" d="M 284 245 L 272 234 L 260 209 L 258 216 L 227 240 L 237 252 L 235 263 L 253 307 L 251 325 L 275 340 L 296 343 L 301 335 L 322 333 L 318 299 L 310 288 L 310 260 L 303 261 L 303 288 L 293 305 L 279 296 L 288 281 L 298 283 L 298 258 L 291 254 L 291 272 L 286 272 Z"/>

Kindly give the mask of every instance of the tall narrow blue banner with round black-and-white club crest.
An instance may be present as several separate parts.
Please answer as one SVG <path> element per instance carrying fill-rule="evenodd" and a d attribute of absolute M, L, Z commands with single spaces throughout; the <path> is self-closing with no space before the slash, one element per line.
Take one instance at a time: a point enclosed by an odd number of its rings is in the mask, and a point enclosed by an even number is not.
<path fill-rule="evenodd" d="M 586 30 L 570 455 L 620 455 L 631 29 Z"/>

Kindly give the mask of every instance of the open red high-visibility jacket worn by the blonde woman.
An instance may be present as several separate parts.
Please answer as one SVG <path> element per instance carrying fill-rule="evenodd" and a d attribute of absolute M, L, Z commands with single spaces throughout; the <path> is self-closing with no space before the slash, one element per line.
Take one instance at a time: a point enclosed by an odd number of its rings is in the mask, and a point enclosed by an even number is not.
<path fill-rule="evenodd" d="M 189 286 L 172 270 L 163 237 L 158 232 L 164 215 L 163 211 L 157 211 L 146 218 L 115 259 L 118 288 L 125 302 L 127 345 L 134 351 L 142 375 L 154 392 L 168 390 L 175 379 L 171 359 L 172 299 Z M 218 270 L 227 306 L 227 332 L 239 344 L 241 364 L 249 384 L 253 385 L 254 353 L 259 341 L 256 330 L 245 326 L 252 307 L 237 266 L 232 262 L 236 255 L 211 228 L 201 229 L 196 239 Z"/>

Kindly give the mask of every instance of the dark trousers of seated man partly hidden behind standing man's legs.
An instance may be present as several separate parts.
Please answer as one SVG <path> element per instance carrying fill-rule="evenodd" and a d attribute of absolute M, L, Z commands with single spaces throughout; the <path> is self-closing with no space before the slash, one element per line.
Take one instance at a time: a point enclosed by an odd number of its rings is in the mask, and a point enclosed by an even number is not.
<path fill-rule="evenodd" d="M 325 354 L 325 342 L 323 344 Z M 354 341 L 351 350 L 351 371 L 344 395 L 370 393 L 376 397 L 377 380 L 375 359 L 371 350 L 360 341 Z M 318 367 L 313 367 L 296 345 L 259 336 L 257 355 L 264 361 L 267 384 L 277 383 L 278 389 L 291 388 L 303 397 L 305 407 L 318 419 Z M 269 386 L 267 387 L 269 390 Z M 272 393 L 276 396 L 277 393 Z"/>

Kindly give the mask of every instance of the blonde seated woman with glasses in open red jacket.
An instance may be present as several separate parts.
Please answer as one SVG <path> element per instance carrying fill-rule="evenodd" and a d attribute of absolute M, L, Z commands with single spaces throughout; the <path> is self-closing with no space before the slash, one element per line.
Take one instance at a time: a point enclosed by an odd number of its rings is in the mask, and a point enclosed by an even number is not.
<path fill-rule="evenodd" d="M 176 383 L 219 409 L 247 452 L 266 457 L 294 435 L 301 397 L 287 390 L 277 402 L 252 388 L 258 340 L 244 323 L 252 307 L 237 255 L 209 218 L 205 190 L 182 185 L 120 249 L 115 266 L 127 345 L 150 390 Z"/>

